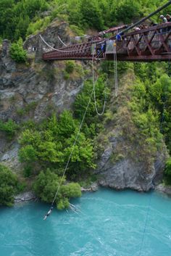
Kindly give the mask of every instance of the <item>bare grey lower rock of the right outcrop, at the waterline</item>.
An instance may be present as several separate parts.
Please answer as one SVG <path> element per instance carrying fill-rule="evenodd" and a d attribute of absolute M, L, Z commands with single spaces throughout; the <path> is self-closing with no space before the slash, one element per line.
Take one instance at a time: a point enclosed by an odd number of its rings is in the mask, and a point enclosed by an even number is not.
<path fill-rule="evenodd" d="M 151 163 L 151 171 L 146 171 L 144 162 L 135 162 L 130 158 L 112 163 L 112 144 L 101 156 L 96 173 L 101 176 L 99 184 L 109 186 L 112 189 L 135 189 L 138 191 L 149 191 L 154 185 L 161 181 L 164 170 L 164 155 Z"/>

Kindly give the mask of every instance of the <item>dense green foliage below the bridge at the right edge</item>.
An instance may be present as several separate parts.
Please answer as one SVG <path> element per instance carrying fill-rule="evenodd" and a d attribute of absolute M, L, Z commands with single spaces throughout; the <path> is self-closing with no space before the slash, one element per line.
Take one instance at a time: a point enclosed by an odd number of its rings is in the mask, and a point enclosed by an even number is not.
<path fill-rule="evenodd" d="M 170 63 L 162 65 L 136 63 L 134 67 L 135 75 L 139 78 L 136 84 L 138 94 L 135 95 L 135 101 L 138 104 L 132 106 L 135 112 L 137 107 L 139 110 L 136 122 L 146 127 L 153 118 L 145 117 L 144 112 L 147 114 L 149 111 L 153 112 L 158 123 L 158 130 L 164 134 L 165 142 L 171 153 L 171 79 L 167 75 L 168 70 L 170 70 Z M 157 128 L 157 125 L 154 125 L 155 127 Z M 147 130 L 146 132 L 149 133 L 150 131 Z M 152 132 L 155 132 L 154 129 Z M 156 133 L 154 137 L 157 138 L 158 136 Z"/>

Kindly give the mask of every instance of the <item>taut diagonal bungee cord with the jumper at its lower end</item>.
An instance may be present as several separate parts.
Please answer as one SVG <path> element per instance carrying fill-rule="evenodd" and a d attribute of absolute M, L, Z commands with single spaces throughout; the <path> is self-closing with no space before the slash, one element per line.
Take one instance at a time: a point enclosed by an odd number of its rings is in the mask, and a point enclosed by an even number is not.
<path fill-rule="evenodd" d="M 49 209 L 49 211 L 48 211 L 47 214 L 45 215 L 45 218 L 43 218 L 44 220 L 46 220 L 46 217 L 49 216 L 49 214 L 51 213 L 51 210 L 53 209 L 53 206 L 54 206 L 54 202 L 55 202 L 55 200 L 57 199 L 57 195 L 58 195 L 58 193 L 59 193 L 60 186 L 62 185 L 62 181 L 64 180 L 64 175 L 65 175 L 65 173 L 66 173 L 66 171 L 67 171 L 68 165 L 69 165 L 70 160 L 71 160 L 71 157 L 72 157 L 72 153 L 73 153 L 73 151 L 74 151 L 74 149 L 75 149 L 75 144 L 76 144 L 77 141 L 78 141 L 78 136 L 80 135 L 80 130 L 81 130 L 82 126 L 83 126 L 83 122 L 84 122 L 84 120 L 85 120 L 85 117 L 86 117 L 86 113 L 87 113 L 89 104 L 91 103 L 91 97 L 92 97 L 92 95 L 93 95 L 93 90 L 91 91 L 91 96 L 90 96 L 90 98 L 89 98 L 89 100 L 88 100 L 88 104 L 87 104 L 87 106 L 86 106 L 86 110 L 85 110 L 85 112 L 84 112 L 83 119 L 81 120 L 80 127 L 79 127 L 79 129 L 78 129 L 77 136 L 75 137 L 75 141 L 74 141 L 74 143 L 73 143 L 73 145 L 72 145 L 72 150 L 71 150 L 70 156 L 69 156 L 69 158 L 68 158 L 68 160 L 67 160 L 67 164 L 66 164 L 66 166 L 65 166 L 65 168 L 64 168 L 64 172 L 63 172 L 63 174 L 62 174 L 62 178 L 61 178 L 61 180 L 60 180 L 60 182 L 59 182 L 59 185 L 58 185 L 58 187 L 57 187 L 57 192 L 56 192 L 56 194 L 54 195 L 54 199 L 53 199 L 53 201 L 52 201 L 52 203 L 51 203 L 51 208 Z"/>

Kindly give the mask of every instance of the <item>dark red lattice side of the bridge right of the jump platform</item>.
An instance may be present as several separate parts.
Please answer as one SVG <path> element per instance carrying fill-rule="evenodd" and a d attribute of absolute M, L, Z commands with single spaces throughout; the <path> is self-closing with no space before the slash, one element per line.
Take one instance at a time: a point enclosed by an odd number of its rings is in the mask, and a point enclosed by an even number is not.
<path fill-rule="evenodd" d="M 171 49 L 171 22 L 131 32 L 117 43 L 117 53 L 128 56 L 167 54 Z"/>

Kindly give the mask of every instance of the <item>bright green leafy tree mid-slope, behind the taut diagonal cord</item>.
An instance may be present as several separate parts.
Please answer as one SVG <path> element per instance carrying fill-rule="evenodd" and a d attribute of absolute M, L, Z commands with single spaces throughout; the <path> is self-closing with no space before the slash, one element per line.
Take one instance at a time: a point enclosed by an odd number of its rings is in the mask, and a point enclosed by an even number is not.
<path fill-rule="evenodd" d="M 36 165 L 36 162 L 41 166 L 54 166 L 60 173 L 73 149 L 77 133 L 78 122 L 70 112 L 64 111 L 58 120 L 56 115 L 52 115 L 37 131 L 30 128 L 22 132 L 20 162 L 23 162 L 25 167 L 28 164 Z M 94 166 L 93 143 L 80 132 L 72 152 L 67 176 L 78 172 L 81 174 Z"/>

